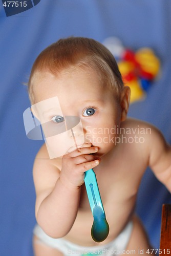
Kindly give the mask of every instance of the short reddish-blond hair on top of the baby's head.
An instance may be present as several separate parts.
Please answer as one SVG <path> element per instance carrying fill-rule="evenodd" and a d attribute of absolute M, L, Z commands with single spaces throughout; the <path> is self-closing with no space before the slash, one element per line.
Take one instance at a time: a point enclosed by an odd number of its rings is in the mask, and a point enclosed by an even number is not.
<path fill-rule="evenodd" d="M 33 86 L 36 75 L 50 72 L 58 76 L 61 71 L 71 67 L 95 70 L 102 86 L 110 86 L 120 96 L 123 81 L 112 53 L 94 39 L 68 37 L 50 45 L 36 58 L 28 83 L 31 102 L 34 102 Z"/>

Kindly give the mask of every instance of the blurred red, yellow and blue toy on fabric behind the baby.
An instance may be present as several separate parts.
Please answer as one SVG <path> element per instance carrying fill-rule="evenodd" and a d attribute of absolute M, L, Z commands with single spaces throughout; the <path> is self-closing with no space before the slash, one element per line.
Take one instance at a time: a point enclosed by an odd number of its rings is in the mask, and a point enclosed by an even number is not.
<path fill-rule="evenodd" d="M 140 48 L 134 52 L 124 48 L 115 37 L 106 38 L 103 44 L 116 56 L 123 82 L 131 88 L 131 103 L 144 99 L 160 72 L 160 60 L 154 51 Z"/>

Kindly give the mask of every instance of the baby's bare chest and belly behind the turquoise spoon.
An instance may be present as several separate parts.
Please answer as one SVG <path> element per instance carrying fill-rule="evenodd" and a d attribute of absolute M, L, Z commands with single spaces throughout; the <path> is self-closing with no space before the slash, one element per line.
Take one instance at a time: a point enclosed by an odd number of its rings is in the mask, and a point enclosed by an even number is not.
<path fill-rule="evenodd" d="M 95 173 L 106 220 L 110 226 L 109 237 L 106 240 L 110 242 L 120 233 L 133 213 L 143 172 L 142 165 L 134 163 L 128 167 L 126 162 L 117 163 L 117 161 L 115 161 L 115 164 L 109 164 L 108 169 L 103 171 L 99 168 L 95 170 Z M 93 215 L 86 187 L 82 185 L 77 218 L 67 235 L 68 239 L 72 242 L 77 241 L 77 243 L 84 246 L 86 244 L 87 246 L 96 245 L 91 238 L 92 224 Z"/>

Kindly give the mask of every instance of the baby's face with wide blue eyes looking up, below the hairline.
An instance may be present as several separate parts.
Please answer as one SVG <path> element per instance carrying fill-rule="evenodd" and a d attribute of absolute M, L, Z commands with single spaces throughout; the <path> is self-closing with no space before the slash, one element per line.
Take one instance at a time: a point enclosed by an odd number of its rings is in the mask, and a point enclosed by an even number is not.
<path fill-rule="evenodd" d="M 121 120 L 120 103 L 111 89 L 101 86 L 94 71 L 72 70 L 62 72 L 58 77 L 46 73 L 34 81 L 34 96 L 36 103 L 40 103 L 41 113 L 44 113 L 39 115 L 41 123 L 49 122 L 53 127 L 59 127 L 66 116 L 80 118 L 81 125 L 73 130 L 77 146 L 91 142 L 99 147 L 98 156 L 109 153 L 115 146 L 116 131 Z M 41 102 L 49 103 L 41 105 Z M 58 135 L 56 139 L 55 136 L 47 136 L 46 143 L 53 151 L 60 147 L 61 152 L 61 144 L 64 143 L 64 155 L 73 146 L 70 143 L 73 132 L 70 130 L 65 138 L 63 135 L 61 133 L 60 138 Z"/>

